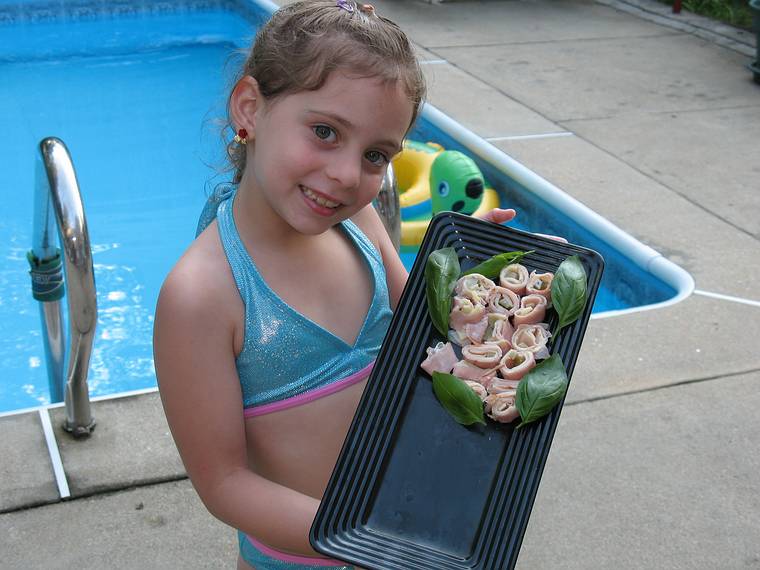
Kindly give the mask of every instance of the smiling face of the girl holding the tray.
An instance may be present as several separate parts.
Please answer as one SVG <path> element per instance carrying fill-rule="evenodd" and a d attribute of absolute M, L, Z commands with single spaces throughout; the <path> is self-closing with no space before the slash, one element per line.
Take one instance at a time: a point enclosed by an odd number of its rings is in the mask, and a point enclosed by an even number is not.
<path fill-rule="evenodd" d="M 322 233 L 375 198 L 412 112 L 399 83 L 339 72 L 258 101 L 243 183 L 295 230 Z"/>

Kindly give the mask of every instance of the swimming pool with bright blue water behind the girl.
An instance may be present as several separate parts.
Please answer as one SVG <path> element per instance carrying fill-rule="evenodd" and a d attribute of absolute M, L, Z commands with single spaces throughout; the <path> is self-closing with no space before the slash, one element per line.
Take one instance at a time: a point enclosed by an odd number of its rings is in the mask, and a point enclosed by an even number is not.
<path fill-rule="evenodd" d="M 154 388 L 151 334 L 158 291 L 193 238 L 207 192 L 224 180 L 213 169 L 222 163 L 214 119 L 223 115 L 239 50 L 250 45 L 271 9 L 253 1 L 0 0 L 0 77 L 10 86 L 0 91 L 0 160 L 6 173 L 0 412 L 49 402 L 25 257 L 39 141 L 65 141 L 83 194 L 98 301 L 90 393 Z M 520 210 L 517 227 L 564 235 L 600 251 L 607 271 L 597 315 L 681 294 L 672 282 L 652 275 L 651 259 L 644 258 L 656 252 L 641 250 L 637 259 L 639 250 L 630 249 L 627 238 L 620 246 L 585 229 L 593 224 L 560 212 L 565 208 L 552 205 L 554 191 L 545 191 L 543 181 L 524 176 L 519 165 L 507 174 L 507 157 L 489 154 L 492 147 L 434 108 L 425 110 L 411 137 L 473 155 Z"/>

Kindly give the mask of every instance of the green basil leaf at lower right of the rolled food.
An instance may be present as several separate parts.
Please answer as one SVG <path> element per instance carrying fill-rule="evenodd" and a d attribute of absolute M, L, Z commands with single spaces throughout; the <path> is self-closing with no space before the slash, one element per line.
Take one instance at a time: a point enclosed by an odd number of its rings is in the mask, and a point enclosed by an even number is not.
<path fill-rule="evenodd" d="M 565 365 L 558 354 L 553 354 L 523 376 L 517 384 L 515 397 L 515 405 L 522 419 L 517 428 L 551 412 L 564 397 L 567 384 Z"/>

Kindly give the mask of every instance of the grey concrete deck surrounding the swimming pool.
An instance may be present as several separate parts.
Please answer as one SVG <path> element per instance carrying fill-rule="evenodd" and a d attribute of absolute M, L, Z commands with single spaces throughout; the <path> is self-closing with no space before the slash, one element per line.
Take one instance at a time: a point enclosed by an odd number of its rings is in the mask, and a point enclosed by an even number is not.
<path fill-rule="evenodd" d="M 754 36 L 644 0 L 374 3 L 432 104 L 696 281 L 590 322 L 517 568 L 760 568 Z M 62 412 L 0 418 L 0 567 L 234 567 L 155 392 L 95 402 L 86 441 Z"/>

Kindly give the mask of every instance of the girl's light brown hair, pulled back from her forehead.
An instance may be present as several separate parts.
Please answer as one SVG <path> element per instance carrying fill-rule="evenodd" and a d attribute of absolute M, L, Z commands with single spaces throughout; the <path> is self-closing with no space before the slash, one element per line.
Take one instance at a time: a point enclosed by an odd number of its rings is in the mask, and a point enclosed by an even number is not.
<path fill-rule="evenodd" d="M 353 0 L 303 0 L 284 6 L 256 34 L 239 77 L 250 75 L 267 99 L 321 88 L 330 73 L 400 81 L 414 105 L 411 125 L 425 97 L 425 80 L 409 39 L 370 5 Z M 228 102 L 229 105 L 229 102 Z M 226 128 L 232 128 L 229 120 Z M 245 147 L 227 144 L 240 182 Z"/>

